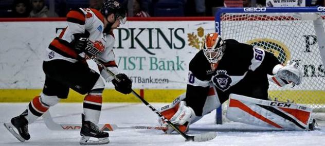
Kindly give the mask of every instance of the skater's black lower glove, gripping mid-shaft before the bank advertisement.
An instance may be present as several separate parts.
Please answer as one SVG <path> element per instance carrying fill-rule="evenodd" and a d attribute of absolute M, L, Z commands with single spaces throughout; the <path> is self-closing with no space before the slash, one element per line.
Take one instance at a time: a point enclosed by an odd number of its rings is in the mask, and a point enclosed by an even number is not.
<path fill-rule="evenodd" d="M 132 92 L 132 81 L 125 74 L 118 74 L 116 77 L 120 80 L 113 79 L 112 83 L 115 89 L 122 94 L 130 94 Z"/>

